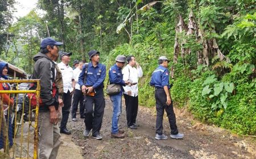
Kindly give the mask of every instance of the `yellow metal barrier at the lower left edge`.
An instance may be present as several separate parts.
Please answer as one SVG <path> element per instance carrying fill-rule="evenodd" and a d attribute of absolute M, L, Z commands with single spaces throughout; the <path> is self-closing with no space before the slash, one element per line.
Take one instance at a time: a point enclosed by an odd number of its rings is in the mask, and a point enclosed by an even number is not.
<path fill-rule="evenodd" d="M 20 83 L 31 83 L 31 82 L 36 83 L 35 90 L 19 90 L 18 85 Z M 9 83 L 10 85 L 12 84 L 16 85 L 16 90 L 0 90 L 0 145 L 2 142 L 2 146 L 4 150 L 3 152 L 8 154 L 11 158 L 37 159 L 38 143 L 39 143 L 38 115 L 39 115 L 40 80 L 0 80 L 0 83 Z M 35 108 L 31 107 L 31 99 L 26 98 L 27 93 L 36 94 Z M 9 95 L 9 102 L 7 102 L 8 104 L 3 102 L 3 98 L 2 98 L 3 94 Z M 13 95 L 15 95 L 14 104 L 13 106 L 11 106 L 10 100 Z M 22 95 L 23 95 L 23 98 L 22 98 Z M 26 101 L 26 99 L 28 99 L 28 101 Z M 19 104 L 20 110 L 18 110 L 18 104 Z M 25 115 L 26 115 L 26 120 L 24 119 Z M 27 123 L 24 123 L 25 121 Z M 34 125 L 32 125 L 32 122 L 34 122 Z M 24 128 L 26 128 L 26 126 L 28 126 L 28 131 L 24 132 Z M 19 127 L 21 127 L 20 130 L 19 130 Z M 32 149 L 30 147 L 31 145 L 30 127 L 34 128 L 34 139 L 32 139 L 34 141 L 34 147 Z M 13 131 L 13 136 L 12 136 L 13 146 L 11 147 L 9 145 L 10 129 L 11 131 Z M 18 143 L 18 139 L 19 139 L 19 143 Z M 23 143 L 26 143 L 26 141 L 27 141 L 27 147 L 25 148 L 23 147 Z M 23 153 L 25 151 L 26 151 L 26 156 L 24 156 L 24 153 Z M 1 150 L 0 150 L 0 155 L 1 155 Z"/>

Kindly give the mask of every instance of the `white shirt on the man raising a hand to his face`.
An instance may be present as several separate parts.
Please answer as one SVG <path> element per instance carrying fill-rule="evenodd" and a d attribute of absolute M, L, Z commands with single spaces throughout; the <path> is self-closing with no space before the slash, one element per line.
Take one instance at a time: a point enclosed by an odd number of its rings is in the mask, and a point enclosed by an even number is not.
<path fill-rule="evenodd" d="M 126 65 L 125 68 L 122 70 L 123 80 L 131 80 L 133 83 L 138 83 L 138 78 L 143 76 L 141 66 L 137 68 L 133 68 L 130 65 Z M 137 97 L 138 96 L 138 84 L 132 86 L 123 86 L 124 94 L 128 94 L 128 91 L 131 91 L 131 96 Z"/>

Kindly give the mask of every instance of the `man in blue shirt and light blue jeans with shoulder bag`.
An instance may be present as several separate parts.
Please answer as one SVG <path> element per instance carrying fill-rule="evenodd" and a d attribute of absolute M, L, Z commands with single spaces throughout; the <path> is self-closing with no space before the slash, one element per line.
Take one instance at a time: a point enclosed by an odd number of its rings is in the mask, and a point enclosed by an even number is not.
<path fill-rule="evenodd" d="M 118 129 L 118 120 L 122 112 L 122 93 L 123 87 L 129 84 L 128 81 L 123 81 L 122 68 L 125 66 L 126 57 L 123 55 L 118 55 L 115 58 L 115 64 L 109 69 L 109 81 L 110 84 L 115 83 L 120 85 L 121 91 L 118 94 L 110 95 L 110 100 L 113 103 L 113 116 L 112 116 L 112 129 L 111 137 L 113 138 L 124 138 L 124 131 Z"/>

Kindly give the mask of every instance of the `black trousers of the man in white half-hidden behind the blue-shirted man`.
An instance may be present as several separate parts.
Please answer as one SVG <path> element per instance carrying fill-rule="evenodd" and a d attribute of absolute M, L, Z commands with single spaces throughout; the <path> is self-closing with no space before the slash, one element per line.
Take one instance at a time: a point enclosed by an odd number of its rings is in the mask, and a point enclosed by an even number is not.
<path fill-rule="evenodd" d="M 76 118 L 78 104 L 80 116 L 84 116 L 84 94 L 82 94 L 81 90 L 75 89 L 72 103 L 72 118 Z"/>

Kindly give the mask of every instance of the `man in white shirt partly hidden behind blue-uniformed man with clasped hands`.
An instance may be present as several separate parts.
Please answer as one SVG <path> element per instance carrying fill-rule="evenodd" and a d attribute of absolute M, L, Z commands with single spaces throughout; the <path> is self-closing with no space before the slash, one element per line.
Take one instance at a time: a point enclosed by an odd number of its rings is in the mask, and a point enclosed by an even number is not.
<path fill-rule="evenodd" d="M 80 61 L 79 65 L 75 70 L 73 70 L 73 78 L 76 82 L 75 85 L 75 92 L 73 94 L 73 103 L 72 103 L 72 121 L 77 122 L 76 119 L 76 112 L 78 104 L 80 104 L 79 112 L 80 112 L 80 118 L 84 119 L 84 95 L 82 94 L 82 91 L 80 90 L 80 85 L 78 82 L 79 75 L 82 72 L 82 66 L 84 65 L 84 62 Z"/>

